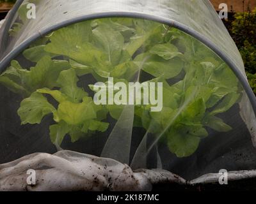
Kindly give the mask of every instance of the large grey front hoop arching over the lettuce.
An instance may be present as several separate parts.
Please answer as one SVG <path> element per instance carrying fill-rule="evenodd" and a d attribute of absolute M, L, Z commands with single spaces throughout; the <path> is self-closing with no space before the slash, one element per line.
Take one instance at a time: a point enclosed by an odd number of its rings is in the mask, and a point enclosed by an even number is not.
<path fill-rule="evenodd" d="M 155 15 L 148 15 L 145 13 L 136 13 L 136 12 L 131 13 L 131 12 L 121 12 L 121 11 L 120 12 L 95 13 L 93 15 L 84 15 L 82 17 L 72 18 L 70 20 L 66 20 L 59 24 L 55 24 L 55 25 L 45 29 L 44 31 L 38 31 L 38 33 L 36 33 L 34 36 L 31 36 L 31 38 L 28 38 L 28 40 L 21 43 L 18 47 L 16 47 L 14 50 L 12 50 L 12 52 L 10 52 L 10 54 L 8 54 L 4 57 L 4 59 L 0 62 L 0 73 L 3 73 L 3 71 L 10 64 L 10 61 L 12 61 L 12 59 L 17 57 L 17 55 L 19 55 L 20 52 L 22 52 L 27 47 L 29 47 L 29 45 L 33 41 L 38 40 L 38 38 L 41 38 L 42 36 L 45 36 L 53 31 L 56 31 L 57 29 L 60 29 L 61 27 L 66 27 L 71 24 L 76 24 L 77 22 L 82 22 L 84 20 L 92 20 L 95 18 L 108 18 L 108 17 L 129 17 L 129 18 L 143 18 L 146 20 L 154 20 L 156 22 L 175 27 L 175 28 L 179 29 L 180 31 L 183 31 L 184 33 L 187 33 L 187 34 L 193 36 L 194 38 L 196 38 L 197 40 L 201 41 L 202 43 L 204 43 L 204 45 L 209 47 L 213 52 L 215 52 L 219 57 L 221 57 L 221 59 L 223 59 L 223 61 L 225 61 L 227 63 L 227 65 L 232 69 L 232 71 L 234 72 L 236 77 L 239 79 L 241 85 L 243 86 L 248 98 L 250 99 L 250 102 L 251 102 L 252 108 L 253 108 L 253 112 L 256 115 L 255 95 L 254 95 L 250 85 L 248 84 L 247 79 L 239 71 L 236 64 L 234 64 L 234 62 L 232 61 L 232 59 L 230 59 L 230 57 L 225 55 L 220 50 L 220 48 L 216 47 L 216 45 L 214 45 L 214 43 L 212 43 L 207 38 L 202 36 L 202 34 L 199 34 L 198 32 L 194 31 L 193 29 L 189 28 L 188 26 L 186 26 L 184 24 L 180 24 L 179 22 L 176 22 L 175 20 L 171 20 L 168 18 L 163 18 L 163 17 L 159 17 L 159 16 L 155 16 Z"/>

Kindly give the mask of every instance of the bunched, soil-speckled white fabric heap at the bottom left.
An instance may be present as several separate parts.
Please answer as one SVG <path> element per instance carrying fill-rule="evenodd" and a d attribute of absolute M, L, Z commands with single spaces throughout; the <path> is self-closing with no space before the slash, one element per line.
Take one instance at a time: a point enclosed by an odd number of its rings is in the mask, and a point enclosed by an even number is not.
<path fill-rule="evenodd" d="M 28 170 L 36 184 L 28 185 Z M 0 191 L 150 191 L 161 182 L 185 184 L 164 170 L 133 172 L 126 164 L 71 151 L 31 154 L 0 165 Z"/>

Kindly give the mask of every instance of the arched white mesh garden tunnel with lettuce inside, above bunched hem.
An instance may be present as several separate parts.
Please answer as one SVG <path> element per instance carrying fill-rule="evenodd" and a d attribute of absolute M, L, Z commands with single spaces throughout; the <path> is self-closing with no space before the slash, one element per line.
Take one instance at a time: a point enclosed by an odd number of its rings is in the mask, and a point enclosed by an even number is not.
<path fill-rule="evenodd" d="M 17 1 L 0 44 L 0 163 L 66 149 L 184 179 L 256 168 L 255 96 L 209 1 Z M 136 82 L 161 84 L 161 110 L 116 97 Z M 95 104 L 97 83 L 119 103 Z"/>

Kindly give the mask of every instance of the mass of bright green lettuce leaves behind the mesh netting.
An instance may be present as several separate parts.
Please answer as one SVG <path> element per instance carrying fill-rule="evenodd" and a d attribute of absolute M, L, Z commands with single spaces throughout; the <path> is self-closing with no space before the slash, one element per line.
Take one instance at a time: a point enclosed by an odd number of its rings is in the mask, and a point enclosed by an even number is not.
<path fill-rule="evenodd" d="M 163 110 L 134 106 L 132 126 L 166 143 L 177 157 L 193 154 L 209 129 L 230 131 L 220 113 L 242 92 L 234 73 L 209 48 L 177 29 L 142 19 L 104 18 L 63 27 L 23 56 L 35 66 L 12 61 L 0 82 L 24 97 L 17 111 L 22 125 L 40 124 L 52 115 L 55 124 L 49 130 L 56 145 L 66 135 L 76 142 L 107 131 L 108 115 L 120 120 L 124 106 L 95 105 L 93 85 L 77 83 L 84 77 L 163 82 Z"/>

